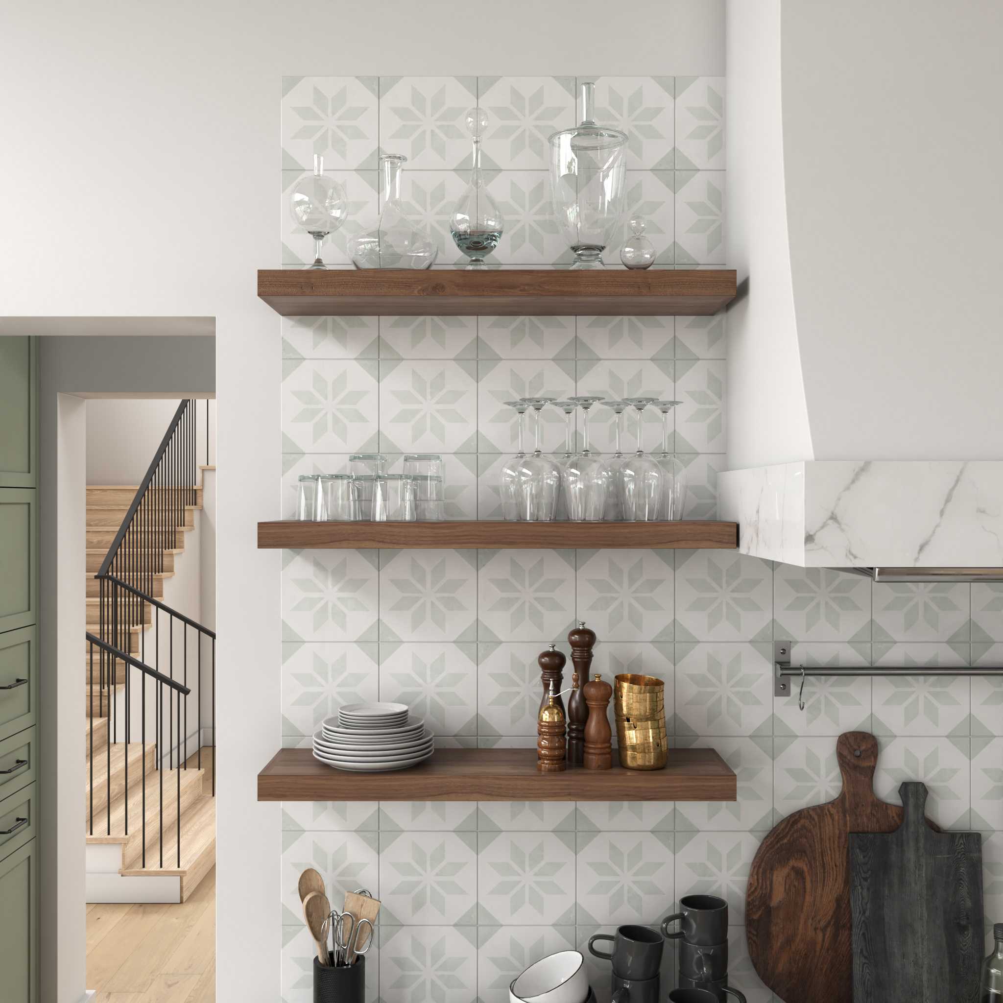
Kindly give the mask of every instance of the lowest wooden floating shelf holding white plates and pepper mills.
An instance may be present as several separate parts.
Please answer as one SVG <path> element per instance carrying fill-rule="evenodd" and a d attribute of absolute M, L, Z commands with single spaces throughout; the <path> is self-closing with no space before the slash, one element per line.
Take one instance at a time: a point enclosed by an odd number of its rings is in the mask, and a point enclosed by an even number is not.
<path fill-rule="evenodd" d="M 614 761 L 616 753 L 614 752 Z M 570 766 L 540 773 L 537 750 L 438 749 L 419 766 L 351 773 L 310 749 L 282 749 L 258 774 L 259 801 L 733 801 L 737 781 L 714 749 L 670 749 L 665 769 Z"/>

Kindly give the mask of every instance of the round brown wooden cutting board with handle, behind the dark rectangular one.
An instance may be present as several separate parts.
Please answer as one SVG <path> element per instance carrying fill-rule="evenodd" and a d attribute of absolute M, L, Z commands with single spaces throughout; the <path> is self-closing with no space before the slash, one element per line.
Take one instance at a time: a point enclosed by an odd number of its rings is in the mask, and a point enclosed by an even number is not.
<path fill-rule="evenodd" d="M 849 834 L 894 832 L 902 823 L 902 808 L 875 796 L 878 739 L 845 732 L 835 754 L 840 796 L 787 815 L 759 845 L 749 871 L 749 957 L 787 1003 L 854 1003 Z"/>

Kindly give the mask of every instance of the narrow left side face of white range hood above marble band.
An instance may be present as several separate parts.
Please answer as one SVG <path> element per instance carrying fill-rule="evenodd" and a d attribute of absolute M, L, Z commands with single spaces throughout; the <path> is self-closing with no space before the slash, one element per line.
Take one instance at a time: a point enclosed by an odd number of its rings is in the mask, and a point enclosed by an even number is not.
<path fill-rule="evenodd" d="M 787 251 L 780 3 L 727 8 L 728 468 L 810 458 Z"/>

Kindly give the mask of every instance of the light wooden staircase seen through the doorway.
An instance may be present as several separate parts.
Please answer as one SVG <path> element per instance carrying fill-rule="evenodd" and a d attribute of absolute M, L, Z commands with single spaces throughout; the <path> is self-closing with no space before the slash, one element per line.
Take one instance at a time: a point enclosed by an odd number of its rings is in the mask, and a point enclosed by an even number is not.
<path fill-rule="evenodd" d="M 100 583 L 93 576 L 114 542 L 136 490 L 135 486 L 87 487 L 86 622 L 88 633 L 97 636 L 101 633 Z M 163 570 L 154 574 L 151 589 L 155 599 L 162 600 L 163 582 L 174 577 L 175 561 L 184 553 L 186 535 L 195 528 L 203 488 L 195 491 L 196 504 L 185 507 L 184 526 L 178 528 L 185 532 L 178 534 L 177 546 L 162 547 Z M 156 536 L 154 532 L 152 537 Z M 174 543 L 164 534 L 163 543 L 168 542 Z M 160 546 L 160 542 L 152 540 L 149 546 Z M 132 555 L 132 567 L 142 567 L 145 562 L 152 565 L 155 553 L 151 550 Z M 132 621 L 127 624 L 127 650 L 135 657 L 143 651 L 143 633 L 152 622 L 150 607 L 144 605 L 143 615 L 138 612 L 138 604 L 122 602 L 119 607 L 118 616 Z M 146 651 L 152 650 L 151 633 L 145 637 Z M 132 673 L 131 686 L 136 684 L 138 670 L 128 669 L 120 661 L 112 669 L 106 656 L 102 688 L 99 653 L 95 649 L 91 655 L 89 648 L 86 645 L 84 657 L 87 901 L 185 902 L 216 863 L 216 799 L 207 768 L 215 750 L 202 750 L 201 769 L 197 755 L 180 768 L 176 765 L 159 769 L 153 741 L 131 741 L 126 745 L 121 723 L 116 727 L 110 708 L 116 700 L 116 706 L 121 707 L 125 673 Z M 132 738 L 136 731 L 133 725 Z M 191 746 L 189 751 L 194 751 Z"/>

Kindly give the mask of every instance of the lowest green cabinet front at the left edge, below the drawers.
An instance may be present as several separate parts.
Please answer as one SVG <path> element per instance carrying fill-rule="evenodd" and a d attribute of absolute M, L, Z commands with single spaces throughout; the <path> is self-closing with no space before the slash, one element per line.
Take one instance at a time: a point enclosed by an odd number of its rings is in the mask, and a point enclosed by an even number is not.
<path fill-rule="evenodd" d="M 0 998 L 38 999 L 38 841 L 0 861 Z"/>

